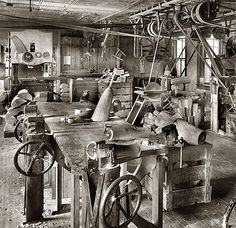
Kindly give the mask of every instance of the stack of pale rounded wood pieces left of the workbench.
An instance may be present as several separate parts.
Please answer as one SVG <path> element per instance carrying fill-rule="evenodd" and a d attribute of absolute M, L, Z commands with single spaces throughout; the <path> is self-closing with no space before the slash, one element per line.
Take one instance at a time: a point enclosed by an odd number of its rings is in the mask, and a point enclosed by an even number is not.
<path fill-rule="evenodd" d="M 17 122 L 17 116 L 24 112 L 25 106 L 32 101 L 31 94 L 26 90 L 22 89 L 12 99 L 11 107 L 8 109 L 5 115 L 6 127 L 12 128 Z"/>

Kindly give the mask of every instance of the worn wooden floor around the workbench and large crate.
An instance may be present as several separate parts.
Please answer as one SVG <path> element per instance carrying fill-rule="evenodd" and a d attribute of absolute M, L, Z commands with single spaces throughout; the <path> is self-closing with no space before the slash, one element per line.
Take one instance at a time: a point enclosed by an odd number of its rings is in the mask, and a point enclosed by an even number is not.
<path fill-rule="evenodd" d="M 3 138 L 3 124 L 0 124 L 0 130 L 0 227 L 24 227 L 20 226 L 24 221 L 23 179 L 16 172 L 12 160 L 19 144 L 14 139 Z M 236 197 L 236 141 L 211 133 L 208 134 L 207 141 L 214 145 L 212 202 L 164 212 L 165 228 L 221 227 L 226 206 Z M 144 201 L 141 214 L 151 220 L 148 200 Z M 57 217 L 49 215 L 47 218 L 49 221 L 37 223 L 34 227 L 69 227 L 69 213 Z M 232 224 L 236 224 L 235 211 L 231 220 Z"/>

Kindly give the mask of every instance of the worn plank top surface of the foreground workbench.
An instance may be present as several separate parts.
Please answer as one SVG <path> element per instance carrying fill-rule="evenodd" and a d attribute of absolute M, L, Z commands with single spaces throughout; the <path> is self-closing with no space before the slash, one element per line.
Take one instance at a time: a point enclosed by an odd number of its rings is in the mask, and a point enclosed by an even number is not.
<path fill-rule="evenodd" d="M 56 103 L 38 102 L 38 111 L 44 117 L 46 127 L 71 166 L 72 172 L 84 168 L 84 148 L 91 141 L 105 140 L 104 126 L 110 122 L 84 122 L 68 124 L 61 121 L 63 116 L 74 114 L 80 108 L 79 102 Z M 120 124 L 123 120 L 111 121 Z"/>

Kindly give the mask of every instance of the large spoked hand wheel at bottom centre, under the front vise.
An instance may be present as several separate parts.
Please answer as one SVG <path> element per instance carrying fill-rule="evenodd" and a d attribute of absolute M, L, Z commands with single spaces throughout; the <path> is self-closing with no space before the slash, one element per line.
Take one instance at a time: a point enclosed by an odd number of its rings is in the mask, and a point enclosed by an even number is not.
<path fill-rule="evenodd" d="M 129 190 L 129 186 L 135 186 L 132 190 Z M 124 186 L 122 192 L 122 185 Z M 135 200 L 132 203 L 135 204 L 134 209 L 130 210 L 132 197 Z M 122 205 L 123 199 L 126 199 L 126 207 Z M 137 214 L 142 201 L 142 186 L 139 180 L 133 175 L 125 175 L 116 179 L 107 189 L 101 202 L 102 220 L 106 227 L 126 227 Z M 111 221 L 114 221 L 114 211 L 119 213 L 119 224 L 112 225 Z"/>

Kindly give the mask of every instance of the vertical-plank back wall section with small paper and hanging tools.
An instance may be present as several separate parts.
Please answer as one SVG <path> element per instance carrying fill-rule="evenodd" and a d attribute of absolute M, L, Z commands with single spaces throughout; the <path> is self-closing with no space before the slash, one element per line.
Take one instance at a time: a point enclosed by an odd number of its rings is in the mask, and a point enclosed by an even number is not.
<path fill-rule="evenodd" d="M 105 68 L 116 66 L 113 55 L 118 47 L 117 37 L 109 36 L 106 47 L 101 43 L 104 36 L 100 34 L 83 34 L 80 37 L 69 35 L 61 38 L 61 72 L 77 74 L 81 71 L 102 73 Z M 66 57 L 67 56 L 67 57 Z"/>

